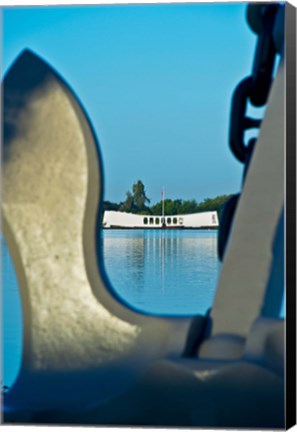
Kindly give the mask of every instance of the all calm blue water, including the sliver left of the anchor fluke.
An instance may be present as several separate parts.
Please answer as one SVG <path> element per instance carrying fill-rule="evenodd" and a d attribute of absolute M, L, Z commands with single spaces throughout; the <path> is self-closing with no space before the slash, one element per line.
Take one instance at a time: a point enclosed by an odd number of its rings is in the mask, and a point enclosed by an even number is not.
<path fill-rule="evenodd" d="M 218 274 L 216 231 L 105 230 L 104 261 L 118 294 L 137 309 L 192 315 L 210 307 Z M 22 314 L 18 284 L 2 248 L 3 382 L 20 367 Z"/>

